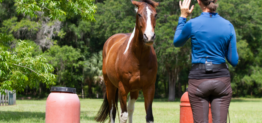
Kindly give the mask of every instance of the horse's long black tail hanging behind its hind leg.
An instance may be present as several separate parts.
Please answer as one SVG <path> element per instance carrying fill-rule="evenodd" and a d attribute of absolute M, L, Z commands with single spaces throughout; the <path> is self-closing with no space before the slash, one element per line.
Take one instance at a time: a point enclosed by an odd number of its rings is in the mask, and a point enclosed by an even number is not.
<path fill-rule="evenodd" d="M 118 113 L 118 89 L 116 91 L 116 97 L 115 97 L 115 107 L 117 109 L 117 113 Z M 105 96 L 104 96 L 104 101 L 98 111 L 98 113 L 96 114 L 96 117 L 95 117 L 95 121 L 96 122 L 102 122 L 104 123 L 108 117 L 110 116 L 110 109 L 109 109 L 109 103 L 108 103 L 108 100 L 107 100 L 107 94 L 105 93 Z M 119 113 L 118 113 L 118 117 L 119 117 Z M 109 123 L 111 122 L 111 120 L 109 120 Z"/>

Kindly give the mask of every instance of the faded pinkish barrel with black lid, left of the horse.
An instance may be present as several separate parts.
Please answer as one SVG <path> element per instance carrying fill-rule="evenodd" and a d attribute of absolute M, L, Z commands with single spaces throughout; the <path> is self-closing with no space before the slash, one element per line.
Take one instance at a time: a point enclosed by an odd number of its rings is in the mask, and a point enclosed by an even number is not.
<path fill-rule="evenodd" d="M 75 88 L 51 87 L 46 123 L 80 123 L 80 100 Z"/>

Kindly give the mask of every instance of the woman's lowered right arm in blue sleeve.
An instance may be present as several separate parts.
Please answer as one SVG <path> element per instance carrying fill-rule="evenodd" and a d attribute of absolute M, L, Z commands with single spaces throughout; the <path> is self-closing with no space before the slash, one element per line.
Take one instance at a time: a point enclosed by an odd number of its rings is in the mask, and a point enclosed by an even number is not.
<path fill-rule="evenodd" d="M 233 67 L 237 65 L 238 62 L 238 54 L 236 50 L 236 35 L 235 35 L 235 29 L 232 24 L 230 24 L 230 31 L 231 31 L 231 38 L 229 45 L 227 47 L 227 62 L 231 64 Z"/>

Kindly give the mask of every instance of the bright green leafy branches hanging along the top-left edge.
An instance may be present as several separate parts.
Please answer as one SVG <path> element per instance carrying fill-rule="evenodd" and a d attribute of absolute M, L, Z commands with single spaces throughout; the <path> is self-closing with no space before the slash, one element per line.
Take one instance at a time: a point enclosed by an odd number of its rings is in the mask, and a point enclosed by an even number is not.
<path fill-rule="evenodd" d="M 17 2 L 18 14 L 24 13 L 31 18 L 37 18 L 37 11 L 43 11 L 45 17 L 53 20 L 59 19 L 62 15 L 68 17 L 80 14 L 84 20 L 95 21 L 96 5 L 93 0 L 14 0 Z M 2 0 L 0 1 L 2 2 Z"/>

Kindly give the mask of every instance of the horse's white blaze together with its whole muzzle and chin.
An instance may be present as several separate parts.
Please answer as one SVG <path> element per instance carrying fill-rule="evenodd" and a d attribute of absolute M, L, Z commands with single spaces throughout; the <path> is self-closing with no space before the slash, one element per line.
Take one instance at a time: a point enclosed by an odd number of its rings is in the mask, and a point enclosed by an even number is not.
<path fill-rule="evenodd" d="M 145 44 L 152 45 L 155 39 L 155 33 L 153 32 L 152 24 L 151 24 L 151 10 L 149 10 L 148 6 L 146 6 L 147 20 L 146 20 L 146 28 L 145 33 L 143 35 Z"/>

